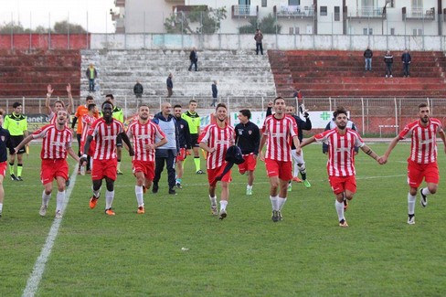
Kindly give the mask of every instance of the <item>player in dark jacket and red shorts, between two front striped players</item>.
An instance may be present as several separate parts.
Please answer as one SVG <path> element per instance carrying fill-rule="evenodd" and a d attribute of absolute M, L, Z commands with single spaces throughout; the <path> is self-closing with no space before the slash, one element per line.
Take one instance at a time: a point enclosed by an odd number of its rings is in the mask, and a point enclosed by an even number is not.
<path fill-rule="evenodd" d="M 236 145 L 239 146 L 245 162 L 239 164 L 240 175 L 248 174 L 246 195 L 252 195 L 252 184 L 254 183 L 254 170 L 257 165 L 259 154 L 260 131 L 259 127 L 250 122 L 250 110 L 239 111 L 239 123 L 234 127 L 236 131 Z"/>

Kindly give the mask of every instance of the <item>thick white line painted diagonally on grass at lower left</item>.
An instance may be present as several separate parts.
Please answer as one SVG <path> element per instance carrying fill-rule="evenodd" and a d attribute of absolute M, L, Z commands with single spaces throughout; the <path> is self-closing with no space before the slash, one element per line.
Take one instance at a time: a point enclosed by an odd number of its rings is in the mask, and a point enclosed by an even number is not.
<path fill-rule="evenodd" d="M 40 251 L 40 255 L 37 258 L 36 264 L 34 264 L 34 269 L 29 279 L 27 280 L 27 287 L 25 288 L 22 296 L 30 297 L 35 296 L 38 289 L 38 284 L 42 280 L 43 272 L 45 271 L 45 265 L 49 259 L 49 255 L 51 254 L 51 249 L 53 249 L 54 242 L 56 241 L 56 237 L 58 236 L 58 228 L 62 223 L 63 215 L 65 214 L 65 209 L 69 203 L 69 196 L 71 196 L 71 192 L 73 190 L 74 184 L 76 183 L 76 176 L 78 175 L 78 166 L 75 166 L 73 173 L 69 178 L 69 187 L 66 189 L 65 200 L 62 207 L 62 218 L 55 218 L 51 228 L 48 232 L 47 240 L 45 241 L 45 245 Z M 54 192 L 54 191 L 53 191 Z M 57 192 L 57 187 L 56 187 Z M 56 203 L 56 196 L 52 198 L 54 203 Z"/>

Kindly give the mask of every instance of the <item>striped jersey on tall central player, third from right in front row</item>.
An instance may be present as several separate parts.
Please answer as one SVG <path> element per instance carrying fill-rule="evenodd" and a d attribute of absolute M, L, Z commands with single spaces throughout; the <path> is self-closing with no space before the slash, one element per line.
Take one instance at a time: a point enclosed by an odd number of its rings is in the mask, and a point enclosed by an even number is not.
<path fill-rule="evenodd" d="M 292 137 L 297 136 L 297 123 L 286 115 L 282 119 L 276 119 L 270 115 L 263 124 L 263 135 L 268 136 L 266 143 L 266 159 L 276 161 L 292 161 Z"/>

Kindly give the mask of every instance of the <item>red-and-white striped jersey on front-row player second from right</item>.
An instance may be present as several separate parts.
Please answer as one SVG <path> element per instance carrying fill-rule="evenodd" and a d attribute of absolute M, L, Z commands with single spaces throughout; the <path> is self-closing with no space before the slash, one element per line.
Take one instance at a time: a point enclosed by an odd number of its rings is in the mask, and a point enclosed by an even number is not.
<path fill-rule="evenodd" d="M 362 147 L 361 136 L 352 129 L 345 128 L 341 135 L 337 129 L 314 135 L 319 143 L 328 144 L 327 171 L 330 176 L 355 175 L 355 146 Z"/>

